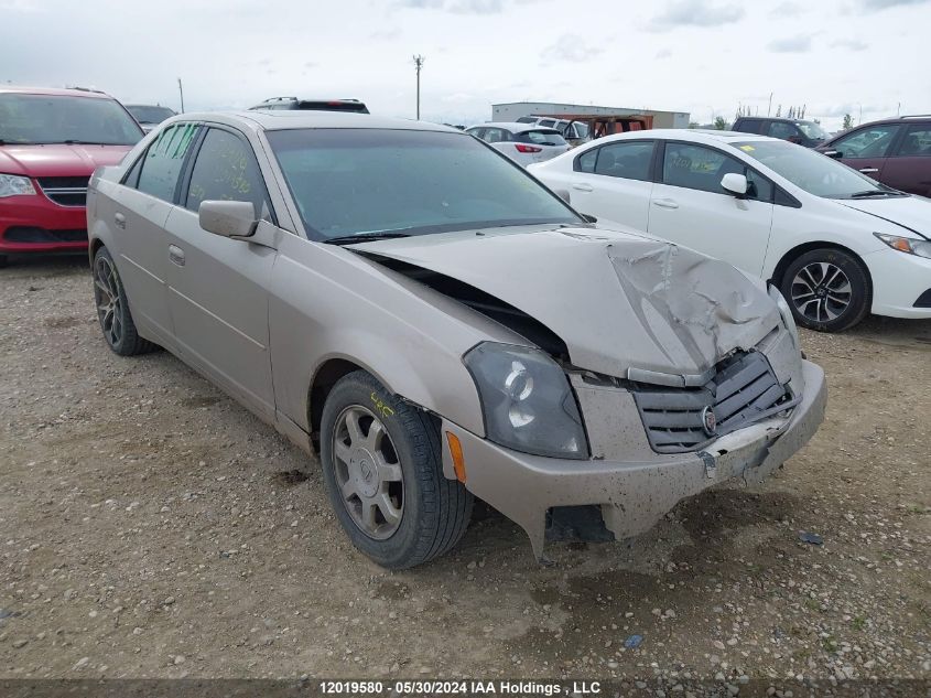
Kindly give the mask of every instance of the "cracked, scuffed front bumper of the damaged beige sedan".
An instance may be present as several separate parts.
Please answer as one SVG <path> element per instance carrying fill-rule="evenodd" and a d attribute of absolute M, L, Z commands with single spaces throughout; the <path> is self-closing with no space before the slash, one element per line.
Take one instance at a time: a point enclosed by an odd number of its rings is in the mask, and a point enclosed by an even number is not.
<path fill-rule="evenodd" d="M 705 451 L 660 455 L 650 461 L 572 461 L 518 453 L 486 441 L 452 422 L 443 431 L 458 437 L 466 487 L 530 536 L 543 555 L 546 512 L 555 506 L 600 505 L 605 526 L 617 539 L 637 536 L 683 497 L 743 476 L 759 483 L 804 445 L 824 419 L 824 372 L 803 362 L 804 395 L 789 418 L 740 429 Z M 444 449 L 444 473 L 455 477 Z"/>

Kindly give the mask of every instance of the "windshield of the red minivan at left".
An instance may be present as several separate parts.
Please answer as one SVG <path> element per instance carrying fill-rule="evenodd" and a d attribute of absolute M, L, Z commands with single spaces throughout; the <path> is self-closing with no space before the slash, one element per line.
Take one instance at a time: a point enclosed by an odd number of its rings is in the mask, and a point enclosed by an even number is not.
<path fill-rule="evenodd" d="M 0 95 L 0 142 L 132 146 L 142 129 L 115 99 Z"/>

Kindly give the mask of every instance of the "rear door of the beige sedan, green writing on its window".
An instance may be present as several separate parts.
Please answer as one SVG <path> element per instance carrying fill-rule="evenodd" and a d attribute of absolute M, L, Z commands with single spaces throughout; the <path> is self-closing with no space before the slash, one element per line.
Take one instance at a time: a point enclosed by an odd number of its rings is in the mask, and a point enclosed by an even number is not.
<path fill-rule="evenodd" d="M 112 225 L 120 229 L 117 269 L 130 310 L 143 332 L 162 345 L 173 344 L 167 307 L 167 234 L 178 178 L 197 133 L 196 124 L 166 128 L 139 157 L 113 202 Z"/>

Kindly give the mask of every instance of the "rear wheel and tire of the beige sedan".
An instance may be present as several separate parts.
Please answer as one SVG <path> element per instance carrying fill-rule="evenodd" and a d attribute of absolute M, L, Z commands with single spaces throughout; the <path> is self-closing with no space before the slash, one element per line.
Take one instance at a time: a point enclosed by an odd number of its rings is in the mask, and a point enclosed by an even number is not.
<path fill-rule="evenodd" d="M 122 279 L 106 247 L 94 255 L 90 273 L 94 278 L 94 304 L 107 346 L 120 356 L 145 354 L 158 348 L 156 344 L 143 340 L 136 331 Z"/>

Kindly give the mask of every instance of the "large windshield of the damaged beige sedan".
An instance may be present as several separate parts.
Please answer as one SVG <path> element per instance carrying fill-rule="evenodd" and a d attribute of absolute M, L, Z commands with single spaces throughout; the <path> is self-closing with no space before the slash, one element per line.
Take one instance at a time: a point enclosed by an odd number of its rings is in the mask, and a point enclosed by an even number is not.
<path fill-rule="evenodd" d="M 269 131 L 312 239 L 584 223 L 520 167 L 464 133 Z"/>

